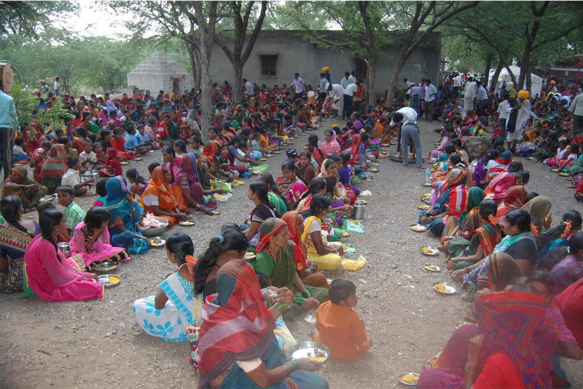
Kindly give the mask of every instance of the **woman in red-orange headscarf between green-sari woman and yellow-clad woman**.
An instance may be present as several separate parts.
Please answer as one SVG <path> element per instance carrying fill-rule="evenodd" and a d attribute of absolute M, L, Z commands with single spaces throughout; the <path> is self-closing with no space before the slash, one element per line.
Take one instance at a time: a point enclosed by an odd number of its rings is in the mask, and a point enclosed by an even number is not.
<path fill-rule="evenodd" d="M 300 212 L 289 211 L 283 214 L 282 219 L 287 224 L 287 236 L 294 243 L 293 259 L 301 281 L 306 285 L 328 288 L 326 276 L 318 272 L 316 262 L 308 260 L 307 246 L 301 240 L 301 234 L 304 233 L 304 217 Z"/>

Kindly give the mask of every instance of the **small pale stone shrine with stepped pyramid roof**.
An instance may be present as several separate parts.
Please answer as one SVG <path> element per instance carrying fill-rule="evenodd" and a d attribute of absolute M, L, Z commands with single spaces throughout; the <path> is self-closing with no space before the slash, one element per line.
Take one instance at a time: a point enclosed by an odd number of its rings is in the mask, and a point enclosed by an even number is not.
<path fill-rule="evenodd" d="M 192 87 L 192 75 L 163 52 L 154 51 L 128 73 L 128 89 L 134 87 L 150 90 L 154 96 L 160 89 L 168 94 L 174 89 L 184 92 Z"/>

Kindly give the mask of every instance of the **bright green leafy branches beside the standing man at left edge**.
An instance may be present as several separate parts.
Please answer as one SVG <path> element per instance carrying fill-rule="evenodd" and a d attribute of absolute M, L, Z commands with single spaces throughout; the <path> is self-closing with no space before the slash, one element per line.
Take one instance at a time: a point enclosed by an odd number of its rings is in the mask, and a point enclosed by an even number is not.
<path fill-rule="evenodd" d="M 12 98 L 14 99 L 16 115 L 18 117 L 20 128 L 30 125 L 35 119 L 44 128 L 55 122 L 59 122 L 66 117 L 75 117 L 65 109 L 63 104 L 54 104 L 46 111 L 37 111 L 36 105 L 38 99 L 30 89 L 24 88 L 24 84 L 12 85 Z"/>

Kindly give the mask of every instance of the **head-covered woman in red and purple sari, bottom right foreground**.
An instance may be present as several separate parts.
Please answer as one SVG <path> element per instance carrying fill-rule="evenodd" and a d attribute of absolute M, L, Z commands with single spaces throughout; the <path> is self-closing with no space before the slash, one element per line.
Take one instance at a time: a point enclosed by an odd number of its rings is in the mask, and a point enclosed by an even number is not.
<path fill-rule="evenodd" d="M 536 293 L 476 300 L 478 326 L 462 325 L 430 362 L 418 388 L 549 388 L 557 327 Z M 468 350 L 466 353 L 465 351 Z"/>

